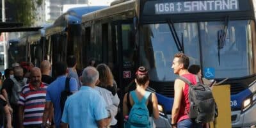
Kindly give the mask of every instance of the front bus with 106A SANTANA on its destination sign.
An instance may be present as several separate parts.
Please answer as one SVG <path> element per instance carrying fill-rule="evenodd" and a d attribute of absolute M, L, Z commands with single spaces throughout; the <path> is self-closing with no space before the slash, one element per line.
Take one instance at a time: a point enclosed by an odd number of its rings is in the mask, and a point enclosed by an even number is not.
<path fill-rule="evenodd" d="M 83 15 L 83 61 L 113 70 L 120 99 L 141 65 L 170 127 L 177 52 L 200 65 L 202 76 L 230 84 L 232 127 L 256 124 L 256 26 L 253 0 L 129 0 Z M 82 56 L 82 55 L 81 55 Z M 122 102 L 120 104 L 122 106 Z M 166 115 L 167 119 L 166 119 Z"/>

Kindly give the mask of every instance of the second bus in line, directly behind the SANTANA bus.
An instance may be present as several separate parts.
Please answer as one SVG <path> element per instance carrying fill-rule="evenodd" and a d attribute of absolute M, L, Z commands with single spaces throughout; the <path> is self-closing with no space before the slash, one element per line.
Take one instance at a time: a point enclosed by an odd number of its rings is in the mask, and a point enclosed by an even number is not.
<path fill-rule="evenodd" d="M 66 61 L 67 56 L 77 58 L 77 71 L 85 64 L 81 63 L 81 20 L 82 15 L 107 6 L 83 6 L 68 9 L 54 21 L 51 26 L 41 30 L 42 58 L 52 64 Z"/>

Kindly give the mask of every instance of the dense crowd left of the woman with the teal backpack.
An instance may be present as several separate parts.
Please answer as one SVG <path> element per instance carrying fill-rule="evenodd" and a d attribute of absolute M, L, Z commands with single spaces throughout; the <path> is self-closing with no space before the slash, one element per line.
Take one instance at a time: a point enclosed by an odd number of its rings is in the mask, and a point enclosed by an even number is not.
<path fill-rule="evenodd" d="M 55 63 L 54 70 L 47 60 L 40 67 L 24 65 L 13 63 L 4 70 L 0 81 L 1 127 L 117 127 L 120 99 L 106 64 L 92 67 L 90 63 L 80 77 L 75 56 Z M 70 95 L 63 94 L 67 88 Z M 66 99 L 61 104 L 63 95 Z"/>

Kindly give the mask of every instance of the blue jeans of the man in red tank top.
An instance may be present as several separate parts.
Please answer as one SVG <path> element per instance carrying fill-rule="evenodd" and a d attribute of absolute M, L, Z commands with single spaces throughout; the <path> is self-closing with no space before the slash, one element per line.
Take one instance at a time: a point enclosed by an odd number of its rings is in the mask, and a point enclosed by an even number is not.
<path fill-rule="evenodd" d="M 177 124 L 177 128 L 202 128 L 202 124 L 193 122 L 190 119 L 182 120 Z"/>

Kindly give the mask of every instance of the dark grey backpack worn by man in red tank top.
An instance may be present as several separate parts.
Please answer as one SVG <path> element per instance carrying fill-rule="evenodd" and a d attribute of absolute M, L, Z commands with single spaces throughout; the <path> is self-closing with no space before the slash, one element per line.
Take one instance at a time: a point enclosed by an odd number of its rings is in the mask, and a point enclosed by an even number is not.
<path fill-rule="evenodd" d="M 195 120 L 196 123 L 213 122 L 218 116 L 218 109 L 209 86 L 199 82 L 196 77 L 196 84 L 193 85 L 185 77 L 179 76 L 178 79 L 189 85 L 189 118 Z"/>

